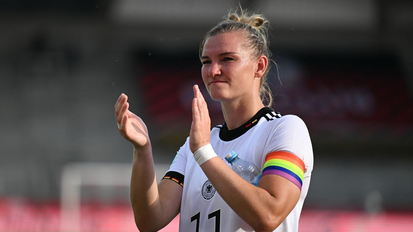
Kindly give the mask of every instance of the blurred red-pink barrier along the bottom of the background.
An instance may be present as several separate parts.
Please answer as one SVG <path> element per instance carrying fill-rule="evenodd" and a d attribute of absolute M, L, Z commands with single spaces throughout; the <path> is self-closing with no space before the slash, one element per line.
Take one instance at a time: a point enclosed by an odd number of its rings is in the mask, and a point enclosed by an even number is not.
<path fill-rule="evenodd" d="M 81 220 L 62 223 L 58 203 L 0 199 L 0 232 L 136 232 L 132 208 L 125 204 L 85 203 Z M 195 225 L 194 225 L 195 226 Z M 195 227 L 194 227 L 195 228 Z M 178 232 L 179 215 L 161 232 Z M 411 232 L 413 213 L 304 209 L 299 232 Z"/>

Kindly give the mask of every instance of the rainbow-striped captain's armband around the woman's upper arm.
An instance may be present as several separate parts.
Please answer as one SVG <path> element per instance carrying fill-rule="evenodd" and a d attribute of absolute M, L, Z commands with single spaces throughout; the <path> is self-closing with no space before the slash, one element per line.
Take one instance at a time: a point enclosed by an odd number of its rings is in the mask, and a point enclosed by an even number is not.
<path fill-rule="evenodd" d="M 261 178 L 269 174 L 282 176 L 297 185 L 301 191 L 304 169 L 304 162 L 296 155 L 283 151 L 271 152 L 265 159 Z"/>

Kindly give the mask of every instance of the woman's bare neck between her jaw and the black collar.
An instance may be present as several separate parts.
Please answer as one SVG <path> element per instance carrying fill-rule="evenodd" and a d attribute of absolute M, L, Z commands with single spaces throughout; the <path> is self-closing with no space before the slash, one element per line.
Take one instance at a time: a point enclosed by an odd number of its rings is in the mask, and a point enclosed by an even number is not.
<path fill-rule="evenodd" d="M 228 130 L 240 127 L 264 107 L 256 98 L 221 102 L 221 108 Z"/>

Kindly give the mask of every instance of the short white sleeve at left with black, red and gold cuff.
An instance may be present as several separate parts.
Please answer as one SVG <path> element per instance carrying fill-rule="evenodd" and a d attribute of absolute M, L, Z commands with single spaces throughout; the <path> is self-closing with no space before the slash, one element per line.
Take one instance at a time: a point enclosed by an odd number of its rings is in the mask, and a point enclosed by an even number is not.
<path fill-rule="evenodd" d="M 173 159 L 169 170 L 166 171 L 165 176 L 162 179 L 170 179 L 183 186 L 189 149 L 188 143 L 189 137 L 186 139 L 184 145 L 179 148 L 178 152 L 176 152 L 176 156 Z"/>

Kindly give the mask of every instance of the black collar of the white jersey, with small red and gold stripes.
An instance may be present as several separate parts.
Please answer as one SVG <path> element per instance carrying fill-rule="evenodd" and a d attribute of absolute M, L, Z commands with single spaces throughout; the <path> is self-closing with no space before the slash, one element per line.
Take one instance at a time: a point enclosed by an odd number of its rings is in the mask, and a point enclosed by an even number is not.
<path fill-rule="evenodd" d="M 240 127 L 232 130 L 228 130 L 227 123 L 225 122 L 222 127 L 220 127 L 221 129 L 219 131 L 219 138 L 221 138 L 222 141 L 234 140 L 235 138 L 242 136 L 243 134 L 245 134 L 245 132 L 254 127 L 261 117 L 264 117 L 266 114 L 273 111 L 274 110 L 271 108 L 264 107 L 259 110 L 250 120 L 242 124 Z"/>

